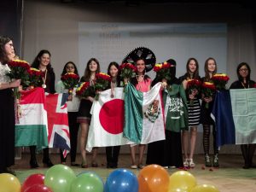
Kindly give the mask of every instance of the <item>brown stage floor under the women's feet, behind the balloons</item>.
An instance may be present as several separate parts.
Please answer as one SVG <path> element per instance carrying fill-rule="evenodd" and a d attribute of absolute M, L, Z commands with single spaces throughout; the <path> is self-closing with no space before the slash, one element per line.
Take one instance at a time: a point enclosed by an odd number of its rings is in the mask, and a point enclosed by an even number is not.
<path fill-rule="evenodd" d="M 38 155 L 38 169 L 31 169 L 29 166 L 29 154 L 22 154 L 21 160 L 15 160 L 15 172 L 17 177 L 20 179 L 20 183 L 22 183 L 26 177 L 33 173 L 45 173 L 47 168 L 43 167 L 42 163 L 42 155 Z M 256 164 L 256 154 L 254 155 L 254 163 Z M 88 156 L 88 160 L 90 162 L 90 154 Z M 59 154 L 50 154 L 50 158 L 54 164 L 60 163 L 60 155 Z M 104 181 L 106 181 L 108 174 L 113 172 L 113 169 L 106 168 L 106 157 L 105 154 L 99 154 L 97 158 L 97 162 L 99 167 L 89 167 L 87 169 L 83 169 L 80 167 L 71 166 L 73 171 L 77 174 L 79 172 L 84 171 L 92 171 L 96 172 Z M 77 156 L 77 162 L 81 162 L 80 154 Z M 219 155 L 219 163 L 220 168 L 212 169 L 209 168 L 203 169 L 204 157 L 203 154 L 195 155 L 195 168 L 189 169 L 198 184 L 212 184 L 217 187 L 221 192 L 255 192 L 256 191 L 256 169 L 242 169 L 243 160 L 241 155 Z M 127 168 L 130 169 L 131 157 L 129 154 L 120 154 L 119 156 L 119 168 Z M 70 165 L 69 156 L 67 157 L 67 166 Z M 139 173 L 139 170 L 131 170 L 135 174 Z M 170 175 L 173 172 L 177 172 L 178 169 L 168 169 L 167 170 Z"/>

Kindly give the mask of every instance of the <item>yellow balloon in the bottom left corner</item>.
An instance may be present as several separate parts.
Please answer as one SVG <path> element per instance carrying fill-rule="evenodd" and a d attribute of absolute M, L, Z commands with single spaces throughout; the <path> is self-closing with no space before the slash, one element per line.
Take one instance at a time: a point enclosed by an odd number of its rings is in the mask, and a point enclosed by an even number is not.
<path fill-rule="evenodd" d="M 20 181 L 9 173 L 0 174 L 0 192 L 20 192 Z"/>

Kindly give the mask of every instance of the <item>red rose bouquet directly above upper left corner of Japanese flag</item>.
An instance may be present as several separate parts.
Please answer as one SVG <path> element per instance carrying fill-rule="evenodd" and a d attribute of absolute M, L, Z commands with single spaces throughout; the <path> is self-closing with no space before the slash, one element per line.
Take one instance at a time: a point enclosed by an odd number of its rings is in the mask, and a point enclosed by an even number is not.
<path fill-rule="evenodd" d="M 96 84 L 94 84 L 94 89 L 96 90 L 96 101 L 99 98 L 99 91 L 106 90 L 111 78 L 106 73 L 96 73 Z"/>

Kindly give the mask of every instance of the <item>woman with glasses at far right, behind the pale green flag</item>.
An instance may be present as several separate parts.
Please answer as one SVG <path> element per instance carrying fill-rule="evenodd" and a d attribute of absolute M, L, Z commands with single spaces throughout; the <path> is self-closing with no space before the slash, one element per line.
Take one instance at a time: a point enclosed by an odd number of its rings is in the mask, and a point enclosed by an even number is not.
<path fill-rule="evenodd" d="M 255 85 L 255 81 L 250 79 L 251 76 L 251 68 L 246 62 L 241 62 L 237 68 L 236 73 L 238 80 L 230 85 L 230 89 L 248 89 L 253 88 Z M 242 144 L 241 145 L 241 153 L 244 160 L 244 166 L 242 168 L 248 169 L 250 167 L 255 168 L 253 165 L 253 154 L 256 148 L 256 144 Z"/>

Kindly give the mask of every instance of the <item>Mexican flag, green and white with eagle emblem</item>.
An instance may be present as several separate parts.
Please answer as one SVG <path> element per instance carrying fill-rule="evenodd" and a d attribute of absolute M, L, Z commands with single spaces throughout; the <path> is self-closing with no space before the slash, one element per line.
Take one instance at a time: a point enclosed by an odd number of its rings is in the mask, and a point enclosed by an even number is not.
<path fill-rule="evenodd" d="M 166 139 L 161 83 L 141 92 L 125 86 L 124 137 L 133 143 L 147 144 Z"/>

